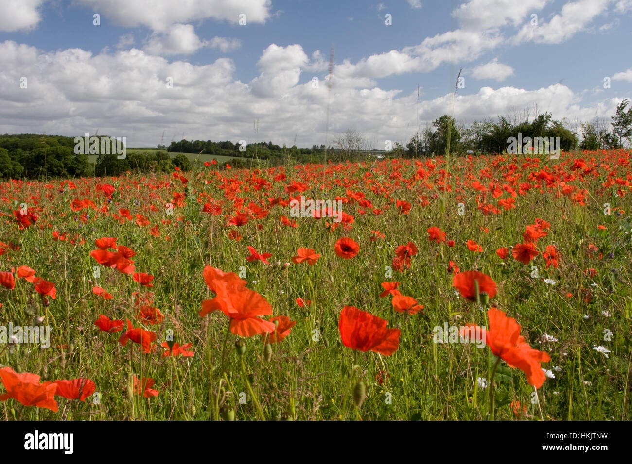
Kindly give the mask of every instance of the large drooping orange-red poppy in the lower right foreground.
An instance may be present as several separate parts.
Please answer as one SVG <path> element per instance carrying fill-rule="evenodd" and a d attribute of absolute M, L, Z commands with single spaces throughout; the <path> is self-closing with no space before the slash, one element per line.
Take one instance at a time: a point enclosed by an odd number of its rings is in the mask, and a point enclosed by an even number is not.
<path fill-rule="evenodd" d="M 503 359 L 509 367 L 517 367 L 525 372 L 527 382 L 540 388 L 547 378 L 540 363 L 549 362 L 549 354 L 530 347 L 520 335 L 520 324 L 516 319 L 507 317 L 505 312 L 491 307 L 487 317 L 489 330 L 483 332 L 483 336 L 492 353 Z"/>

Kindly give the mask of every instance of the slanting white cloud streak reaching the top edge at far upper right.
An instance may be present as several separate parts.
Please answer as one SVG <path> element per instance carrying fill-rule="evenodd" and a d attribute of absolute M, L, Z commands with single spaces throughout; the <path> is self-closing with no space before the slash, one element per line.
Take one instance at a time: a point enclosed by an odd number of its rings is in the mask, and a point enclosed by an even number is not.
<path fill-rule="evenodd" d="M 513 42 L 519 44 L 532 40 L 538 44 L 560 44 L 577 32 L 586 30 L 593 18 L 605 12 L 610 2 L 611 0 L 578 0 L 566 3 L 561 13 L 553 16 L 549 22 L 523 26 Z"/>

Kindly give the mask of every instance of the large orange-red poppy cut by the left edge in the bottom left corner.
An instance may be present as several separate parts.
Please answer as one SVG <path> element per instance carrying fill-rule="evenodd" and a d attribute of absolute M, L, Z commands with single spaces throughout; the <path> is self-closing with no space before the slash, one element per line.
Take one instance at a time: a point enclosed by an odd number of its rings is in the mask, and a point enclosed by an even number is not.
<path fill-rule="evenodd" d="M 13 398 L 25 406 L 37 406 L 51 411 L 59 409 L 55 401 L 57 385 L 52 382 L 40 383 L 40 376 L 37 374 L 18 374 L 11 367 L 3 367 L 0 369 L 0 378 L 6 388 L 6 393 L 0 395 L 0 401 Z"/>

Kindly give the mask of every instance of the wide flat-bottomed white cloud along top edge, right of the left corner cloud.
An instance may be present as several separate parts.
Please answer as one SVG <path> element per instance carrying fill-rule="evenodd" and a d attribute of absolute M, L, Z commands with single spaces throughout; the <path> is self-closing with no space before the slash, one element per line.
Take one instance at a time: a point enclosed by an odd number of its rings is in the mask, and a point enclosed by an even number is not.
<path fill-rule="evenodd" d="M 20 0 L 16 0 L 20 1 Z M 264 23 L 270 17 L 270 0 L 76 0 L 90 6 L 107 20 L 123 27 L 147 26 L 164 32 L 176 23 L 214 18 L 238 23 Z"/>

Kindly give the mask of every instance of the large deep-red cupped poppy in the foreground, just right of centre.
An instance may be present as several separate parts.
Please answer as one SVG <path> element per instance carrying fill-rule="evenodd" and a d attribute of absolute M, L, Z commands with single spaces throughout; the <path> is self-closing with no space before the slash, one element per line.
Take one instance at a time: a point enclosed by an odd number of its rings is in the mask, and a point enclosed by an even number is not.
<path fill-rule="evenodd" d="M 343 307 L 338 330 L 343 345 L 353 350 L 390 356 L 399 347 L 399 329 L 387 328 L 387 321 L 355 306 Z"/>

